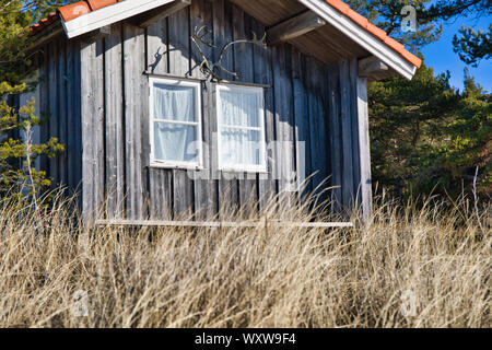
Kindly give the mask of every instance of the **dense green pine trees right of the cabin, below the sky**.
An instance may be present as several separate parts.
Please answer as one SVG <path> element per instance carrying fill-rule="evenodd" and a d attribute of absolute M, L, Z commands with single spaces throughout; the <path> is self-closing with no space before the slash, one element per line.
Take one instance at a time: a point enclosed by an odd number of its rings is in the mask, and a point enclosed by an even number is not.
<path fill-rule="evenodd" d="M 465 91 L 449 72 L 423 66 L 412 81 L 370 84 L 373 175 L 396 197 L 470 191 L 492 195 L 492 101 L 468 73 Z"/>

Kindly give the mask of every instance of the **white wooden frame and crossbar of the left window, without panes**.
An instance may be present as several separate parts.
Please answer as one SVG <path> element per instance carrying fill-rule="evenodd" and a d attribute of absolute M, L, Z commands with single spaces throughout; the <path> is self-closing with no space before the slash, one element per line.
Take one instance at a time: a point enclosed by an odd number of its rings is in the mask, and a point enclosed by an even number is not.
<path fill-rule="evenodd" d="M 177 120 L 166 120 L 156 119 L 154 117 L 154 86 L 155 84 L 164 85 L 175 85 L 175 86 L 187 86 L 194 88 L 196 90 L 195 94 L 195 120 L 196 121 L 177 121 Z M 201 110 L 201 82 L 181 79 L 168 79 L 160 77 L 149 77 L 149 120 L 150 120 L 150 166 L 151 167 L 162 167 L 162 168 L 191 168 L 191 170 L 202 170 L 203 168 L 203 135 L 202 135 L 202 110 Z M 188 125 L 197 127 L 197 140 L 198 142 L 198 160 L 195 162 L 179 162 L 179 161 L 165 161 L 155 159 L 155 144 L 154 144 L 154 122 L 165 122 L 171 125 Z"/>

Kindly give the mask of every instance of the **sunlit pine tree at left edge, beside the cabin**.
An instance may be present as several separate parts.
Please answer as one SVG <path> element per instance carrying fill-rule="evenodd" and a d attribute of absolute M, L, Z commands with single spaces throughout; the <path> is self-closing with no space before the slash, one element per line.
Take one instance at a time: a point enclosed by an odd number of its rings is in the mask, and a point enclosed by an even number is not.
<path fill-rule="evenodd" d="M 51 185 L 44 172 L 35 170 L 34 161 L 63 151 L 56 138 L 32 144 L 28 138 L 32 129 L 46 120 L 35 115 L 34 100 L 15 109 L 9 97 L 25 93 L 37 83 L 24 82 L 33 73 L 32 57 L 25 50 L 33 40 L 27 28 L 65 2 L 0 0 L 0 196 L 22 198 L 27 191 L 35 196 Z"/>

